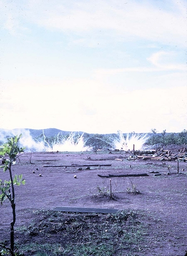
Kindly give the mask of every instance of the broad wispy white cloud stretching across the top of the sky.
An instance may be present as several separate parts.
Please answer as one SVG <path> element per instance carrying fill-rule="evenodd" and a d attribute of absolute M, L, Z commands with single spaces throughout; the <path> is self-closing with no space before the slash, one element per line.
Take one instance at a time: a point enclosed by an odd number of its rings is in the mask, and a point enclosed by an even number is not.
<path fill-rule="evenodd" d="M 175 1 L 170 4 L 172 8 L 164 9 L 147 1 L 124 4 L 120 0 L 115 3 L 112 0 L 96 0 L 71 5 L 56 1 L 53 6 L 47 3 L 44 7 L 43 2 L 38 0 L 37 4 L 29 6 L 27 16 L 38 26 L 67 35 L 75 33 L 84 38 L 92 33 L 96 38 L 105 35 L 115 41 L 144 38 L 184 47 L 187 39 L 185 8 Z"/>

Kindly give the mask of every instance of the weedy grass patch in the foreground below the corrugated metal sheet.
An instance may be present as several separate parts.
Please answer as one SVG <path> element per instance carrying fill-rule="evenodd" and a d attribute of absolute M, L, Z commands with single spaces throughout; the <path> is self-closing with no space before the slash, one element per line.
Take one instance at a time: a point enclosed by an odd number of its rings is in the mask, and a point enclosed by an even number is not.
<path fill-rule="evenodd" d="M 19 229 L 26 239 L 20 249 L 33 256 L 133 256 L 145 233 L 137 215 L 37 212 L 35 225 Z"/>

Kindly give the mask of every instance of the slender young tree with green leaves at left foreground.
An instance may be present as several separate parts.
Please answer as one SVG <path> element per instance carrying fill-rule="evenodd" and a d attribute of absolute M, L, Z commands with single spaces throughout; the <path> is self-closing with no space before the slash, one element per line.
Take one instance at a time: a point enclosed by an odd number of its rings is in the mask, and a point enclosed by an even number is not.
<path fill-rule="evenodd" d="M 15 256 L 14 248 L 14 225 L 16 221 L 16 212 L 15 212 L 15 185 L 25 184 L 25 180 L 22 178 L 22 174 L 12 176 L 12 165 L 18 159 L 19 154 L 23 153 L 23 148 L 19 147 L 20 136 L 15 136 L 8 138 L 8 142 L 0 146 L 0 159 L 2 159 L 3 172 L 9 172 L 9 181 L 0 179 L 0 203 L 3 204 L 3 201 L 8 199 L 12 207 L 12 222 L 10 223 L 10 248 L 9 250 L 11 256 Z M 0 245 L 4 247 L 3 245 Z M 5 247 L 4 247 L 5 248 Z"/>

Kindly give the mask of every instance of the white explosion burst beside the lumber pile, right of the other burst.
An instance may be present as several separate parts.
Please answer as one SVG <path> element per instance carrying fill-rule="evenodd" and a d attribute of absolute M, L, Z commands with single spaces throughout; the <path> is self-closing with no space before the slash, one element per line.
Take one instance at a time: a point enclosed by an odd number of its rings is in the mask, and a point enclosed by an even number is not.
<path fill-rule="evenodd" d="M 133 144 L 135 150 L 143 149 L 143 144 L 146 143 L 149 136 L 147 134 L 140 135 L 140 134 L 132 134 L 129 135 L 127 133 L 126 138 L 124 138 L 123 133 L 121 131 L 117 132 L 118 138 L 113 141 L 114 148 L 119 150 L 133 150 Z"/>

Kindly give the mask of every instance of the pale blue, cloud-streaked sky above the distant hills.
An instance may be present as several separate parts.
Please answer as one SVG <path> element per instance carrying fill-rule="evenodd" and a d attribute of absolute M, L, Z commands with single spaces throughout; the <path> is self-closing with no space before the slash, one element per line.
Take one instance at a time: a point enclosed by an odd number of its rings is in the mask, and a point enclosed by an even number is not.
<path fill-rule="evenodd" d="M 0 0 L 0 128 L 181 132 L 186 46 L 186 0 Z"/>

